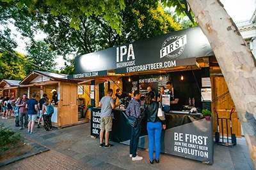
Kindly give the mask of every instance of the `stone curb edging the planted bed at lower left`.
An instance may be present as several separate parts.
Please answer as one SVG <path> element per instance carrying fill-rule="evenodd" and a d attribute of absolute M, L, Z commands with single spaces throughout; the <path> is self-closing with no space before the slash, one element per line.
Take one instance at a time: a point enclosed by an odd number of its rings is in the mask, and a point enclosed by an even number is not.
<path fill-rule="evenodd" d="M 47 152 L 49 151 L 48 148 L 39 145 L 38 143 L 35 143 L 33 141 L 30 141 L 29 139 L 26 139 L 24 137 L 20 138 L 20 141 L 23 141 L 26 145 L 31 146 L 31 148 L 35 148 L 35 152 L 31 152 L 31 153 L 26 153 L 25 155 L 19 156 L 19 157 L 15 157 L 13 159 L 8 159 L 8 160 L 4 160 L 4 162 L 0 162 L 0 167 L 2 166 L 7 166 L 8 164 L 12 164 L 13 162 L 17 162 L 19 160 L 31 157 L 33 155 L 37 155 L 39 153 L 43 153 L 43 152 Z"/>

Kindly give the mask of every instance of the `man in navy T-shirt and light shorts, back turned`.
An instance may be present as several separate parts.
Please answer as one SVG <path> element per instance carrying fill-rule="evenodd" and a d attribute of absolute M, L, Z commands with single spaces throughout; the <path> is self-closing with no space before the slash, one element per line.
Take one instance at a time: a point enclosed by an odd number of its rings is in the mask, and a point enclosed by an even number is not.
<path fill-rule="evenodd" d="M 29 99 L 26 108 L 28 108 L 28 118 L 29 118 L 29 123 L 28 123 L 28 134 L 35 134 L 36 131 L 34 131 L 35 127 L 35 120 L 36 120 L 36 115 L 38 113 L 38 102 L 36 101 L 35 97 L 36 94 L 31 95 L 32 99 Z"/>

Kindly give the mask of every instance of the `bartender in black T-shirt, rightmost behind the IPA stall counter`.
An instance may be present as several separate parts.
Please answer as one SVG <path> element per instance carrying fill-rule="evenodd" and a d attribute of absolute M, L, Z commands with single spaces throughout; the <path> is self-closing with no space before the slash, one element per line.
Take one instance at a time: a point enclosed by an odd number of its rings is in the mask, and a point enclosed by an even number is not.
<path fill-rule="evenodd" d="M 168 89 L 168 92 L 166 92 L 166 94 L 170 94 L 170 110 L 180 110 L 180 92 L 173 89 L 172 81 L 167 81 L 166 89 Z"/>

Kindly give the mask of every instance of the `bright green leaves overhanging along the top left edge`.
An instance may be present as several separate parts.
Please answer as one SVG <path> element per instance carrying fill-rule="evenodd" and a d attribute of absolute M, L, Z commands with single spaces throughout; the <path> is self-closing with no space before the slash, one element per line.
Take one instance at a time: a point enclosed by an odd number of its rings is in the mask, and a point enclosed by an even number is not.
<path fill-rule="evenodd" d="M 81 17 L 92 17 L 103 15 L 106 22 L 109 23 L 112 29 L 115 29 L 118 34 L 122 31 L 122 18 L 116 15 L 121 10 L 124 10 L 124 0 L 86 0 L 86 1 L 19 1 L 19 0 L 5 0 L 12 3 L 19 9 L 28 9 L 30 14 L 36 13 L 38 9 L 48 8 L 49 13 L 53 16 L 65 15 L 70 20 L 68 21 L 70 27 L 79 30 Z"/>

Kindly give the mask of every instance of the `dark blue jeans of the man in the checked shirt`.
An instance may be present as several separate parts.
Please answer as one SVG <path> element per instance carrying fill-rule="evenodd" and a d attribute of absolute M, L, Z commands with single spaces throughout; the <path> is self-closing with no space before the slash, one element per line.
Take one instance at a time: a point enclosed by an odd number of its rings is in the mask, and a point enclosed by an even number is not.
<path fill-rule="evenodd" d="M 140 139 L 140 132 L 141 132 L 141 122 L 138 120 L 138 124 L 136 127 L 131 127 L 131 139 L 130 139 L 130 154 L 132 157 L 137 156 L 137 148 Z"/>

